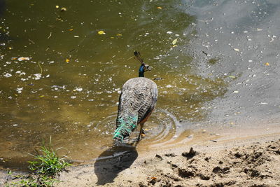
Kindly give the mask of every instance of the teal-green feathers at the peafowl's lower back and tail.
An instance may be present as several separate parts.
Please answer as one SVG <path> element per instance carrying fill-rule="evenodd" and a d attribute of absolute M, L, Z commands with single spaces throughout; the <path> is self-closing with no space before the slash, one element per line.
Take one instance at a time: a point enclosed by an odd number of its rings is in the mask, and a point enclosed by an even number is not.
<path fill-rule="evenodd" d="M 125 116 L 118 119 L 120 125 L 113 133 L 113 139 L 123 142 L 125 137 L 130 136 L 130 133 L 137 127 L 138 116 Z"/>

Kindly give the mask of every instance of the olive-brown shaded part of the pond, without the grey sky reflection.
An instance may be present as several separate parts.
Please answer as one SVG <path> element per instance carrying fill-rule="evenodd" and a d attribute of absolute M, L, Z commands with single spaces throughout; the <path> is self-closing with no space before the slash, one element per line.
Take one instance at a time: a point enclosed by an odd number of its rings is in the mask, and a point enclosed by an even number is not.
<path fill-rule="evenodd" d="M 174 118 L 203 120 L 204 102 L 223 96 L 225 83 L 197 76 L 190 65 L 188 41 L 196 20 L 186 13 L 188 6 L 189 1 L 7 1 L 0 27 L 0 158 L 23 157 L 50 135 L 73 160 L 96 158 L 111 146 L 120 88 L 138 75 L 134 50 L 153 67 L 146 76 L 162 78 L 144 141 L 179 137 Z M 180 128 L 177 133 L 186 130 Z"/>

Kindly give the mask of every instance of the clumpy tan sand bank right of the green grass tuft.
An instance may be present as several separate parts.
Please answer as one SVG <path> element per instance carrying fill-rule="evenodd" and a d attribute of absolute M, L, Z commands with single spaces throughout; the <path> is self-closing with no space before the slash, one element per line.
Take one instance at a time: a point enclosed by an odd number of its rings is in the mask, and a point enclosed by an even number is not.
<path fill-rule="evenodd" d="M 280 186 L 279 139 L 235 142 L 233 148 L 221 144 L 146 155 L 127 166 L 125 160 L 102 163 L 94 172 L 81 166 L 62 174 L 58 186 Z"/>

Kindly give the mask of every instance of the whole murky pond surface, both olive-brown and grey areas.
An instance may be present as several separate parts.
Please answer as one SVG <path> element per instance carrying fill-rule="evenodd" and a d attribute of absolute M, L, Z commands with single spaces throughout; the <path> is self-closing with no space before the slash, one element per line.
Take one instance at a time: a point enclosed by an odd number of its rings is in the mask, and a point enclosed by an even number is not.
<path fill-rule="evenodd" d="M 138 75 L 134 50 L 153 67 L 146 77 L 163 78 L 139 149 L 279 116 L 278 1 L 0 5 L 1 165 L 25 162 L 50 136 L 73 160 L 111 146 L 120 88 Z"/>

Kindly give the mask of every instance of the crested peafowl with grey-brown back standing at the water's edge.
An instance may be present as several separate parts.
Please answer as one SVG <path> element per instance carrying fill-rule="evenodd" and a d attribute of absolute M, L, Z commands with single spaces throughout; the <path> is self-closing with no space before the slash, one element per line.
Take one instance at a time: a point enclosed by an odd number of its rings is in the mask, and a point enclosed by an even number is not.
<path fill-rule="evenodd" d="M 118 104 L 117 128 L 113 133 L 113 139 L 123 142 L 125 137 L 140 124 L 140 132 L 143 132 L 144 123 L 151 116 L 158 99 L 158 87 L 148 78 L 144 77 L 145 71 L 151 71 L 151 67 L 144 63 L 140 53 L 134 52 L 135 58 L 141 62 L 139 77 L 130 78 L 124 85 L 120 93 Z"/>

